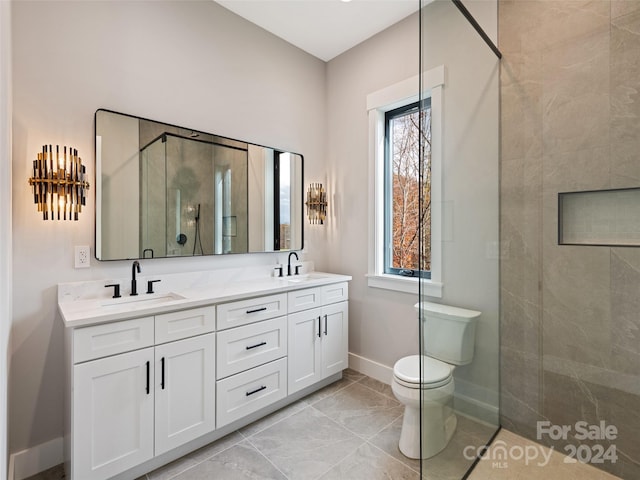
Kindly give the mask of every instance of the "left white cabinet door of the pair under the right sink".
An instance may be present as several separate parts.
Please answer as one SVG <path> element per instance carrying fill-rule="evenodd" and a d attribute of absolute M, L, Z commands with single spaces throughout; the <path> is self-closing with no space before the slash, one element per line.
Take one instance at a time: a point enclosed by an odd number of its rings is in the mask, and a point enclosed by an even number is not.
<path fill-rule="evenodd" d="M 322 310 L 289 315 L 289 395 L 322 379 Z"/>

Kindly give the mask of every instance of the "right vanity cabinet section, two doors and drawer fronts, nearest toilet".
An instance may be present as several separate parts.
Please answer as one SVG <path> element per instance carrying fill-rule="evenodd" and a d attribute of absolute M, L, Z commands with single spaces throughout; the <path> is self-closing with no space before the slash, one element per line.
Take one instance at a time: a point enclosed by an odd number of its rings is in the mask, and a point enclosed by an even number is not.
<path fill-rule="evenodd" d="M 348 367 L 347 300 L 346 282 L 289 292 L 289 394 Z"/>

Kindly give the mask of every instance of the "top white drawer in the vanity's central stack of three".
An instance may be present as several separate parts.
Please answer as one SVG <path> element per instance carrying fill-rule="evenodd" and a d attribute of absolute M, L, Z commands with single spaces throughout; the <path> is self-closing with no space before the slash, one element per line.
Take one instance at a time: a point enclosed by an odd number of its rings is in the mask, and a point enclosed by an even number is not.
<path fill-rule="evenodd" d="M 218 330 L 287 314 L 287 294 L 268 295 L 218 305 Z"/>

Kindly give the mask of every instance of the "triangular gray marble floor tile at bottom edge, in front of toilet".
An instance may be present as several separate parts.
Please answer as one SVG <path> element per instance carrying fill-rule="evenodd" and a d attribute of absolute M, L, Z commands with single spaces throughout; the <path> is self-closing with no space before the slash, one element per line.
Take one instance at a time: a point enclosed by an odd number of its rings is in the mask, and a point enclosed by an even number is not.
<path fill-rule="evenodd" d="M 420 474 L 382 450 L 365 443 L 321 480 L 419 480 Z"/>

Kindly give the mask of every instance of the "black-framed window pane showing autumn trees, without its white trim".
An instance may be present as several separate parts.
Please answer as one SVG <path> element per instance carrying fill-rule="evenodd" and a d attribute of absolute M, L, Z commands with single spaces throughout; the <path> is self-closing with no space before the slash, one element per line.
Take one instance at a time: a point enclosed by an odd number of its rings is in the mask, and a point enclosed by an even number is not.
<path fill-rule="evenodd" d="M 430 99 L 385 113 L 384 177 L 384 273 L 431 278 Z"/>

